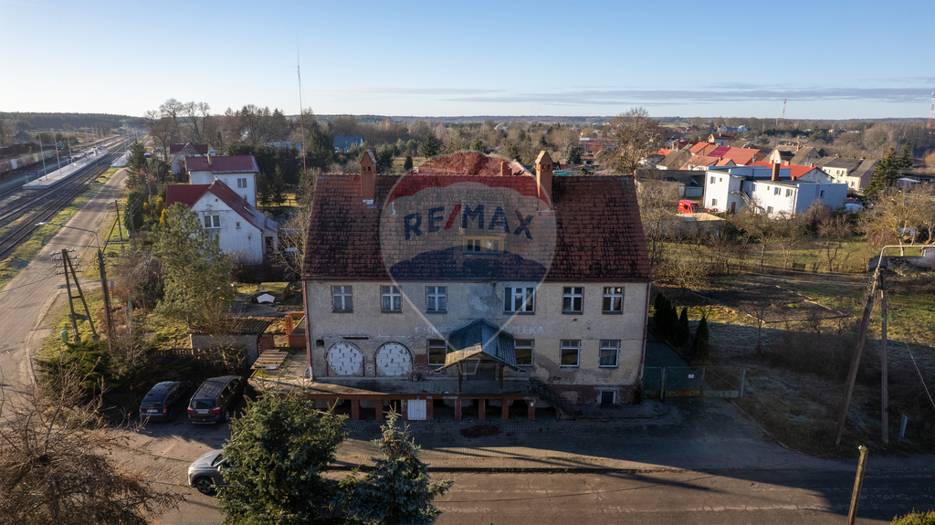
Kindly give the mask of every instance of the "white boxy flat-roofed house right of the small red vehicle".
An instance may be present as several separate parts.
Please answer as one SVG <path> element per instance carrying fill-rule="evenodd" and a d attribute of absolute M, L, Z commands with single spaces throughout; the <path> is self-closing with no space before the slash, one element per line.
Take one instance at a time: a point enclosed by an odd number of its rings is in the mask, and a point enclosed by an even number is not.
<path fill-rule="evenodd" d="M 704 207 L 736 213 L 744 206 L 756 206 L 759 213 L 779 217 L 801 213 L 815 202 L 843 206 L 846 185 L 830 181 L 821 170 L 802 167 L 809 169 L 798 178 L 778 163 L 713 168 L 705 180 Z"/>

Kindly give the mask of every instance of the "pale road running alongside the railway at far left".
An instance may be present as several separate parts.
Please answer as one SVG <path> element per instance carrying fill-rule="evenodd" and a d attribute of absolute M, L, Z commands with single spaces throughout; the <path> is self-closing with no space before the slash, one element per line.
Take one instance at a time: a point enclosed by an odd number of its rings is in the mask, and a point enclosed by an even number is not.
<path fill-rule="evenodd" d="M 65 289 L 65 277 L 53 273 L 50 252 L 62 248 L 94 249 L 94 234 L 108 218 L 108 208 L 118 197 L 126 179 L 120 171 L 62 228 L 7 286 L 0 290 L 0 381 L 4 385 L 20 388 L 32 381 L 32 370 L 27 355 L 27 341 L 47 333 L 36 331 L 37 323 L 59 291 Z"/>

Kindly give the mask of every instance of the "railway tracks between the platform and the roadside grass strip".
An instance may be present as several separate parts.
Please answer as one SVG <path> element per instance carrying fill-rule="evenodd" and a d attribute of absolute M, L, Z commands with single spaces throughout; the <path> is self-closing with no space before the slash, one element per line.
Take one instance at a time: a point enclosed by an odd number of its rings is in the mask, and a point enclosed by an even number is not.
<path fill-rule="evenodd" d="M 7 257 L 14 249 L 25 242 L 38 228 L 36 223 L 44 222 L 55 216 L 58 212 L 70 205 L 81 192 L 88 189 L 91 182 L 108 170 L 110 164 L 120 157 L 120 153 L 108 153 L 99 162 L 91 164 L 59 184 L 36 194 L 26 197 L 24 202 L 17 203 L 11 209 L 4 210 L 0 215 L 0 224 L 12 222 L 14 218 L 20 220 L 12 231 L 3 234 L 0 238 L 0 260 Z"/>

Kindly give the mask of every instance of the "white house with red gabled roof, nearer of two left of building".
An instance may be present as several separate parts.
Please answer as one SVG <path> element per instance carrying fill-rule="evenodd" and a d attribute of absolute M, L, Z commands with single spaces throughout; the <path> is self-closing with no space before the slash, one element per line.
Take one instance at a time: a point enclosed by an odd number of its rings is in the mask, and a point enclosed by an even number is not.
<path fill-rule="evenodd" d="M 222 180 L 171 184 L 165 191 L 165 206 L 176 203 L 192 208 L 202 225 L 217 237 L 221 249 L 245 264 L 260 264 L 266 255 L 280 248 L 279 224 Z"/>

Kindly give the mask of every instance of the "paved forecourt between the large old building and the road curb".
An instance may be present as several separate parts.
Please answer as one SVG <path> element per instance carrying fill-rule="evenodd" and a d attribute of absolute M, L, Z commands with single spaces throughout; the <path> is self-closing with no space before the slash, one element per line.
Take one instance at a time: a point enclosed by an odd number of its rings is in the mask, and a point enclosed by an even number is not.
<path fill-rule="evenodd" d="M 647 401 L 646 405 L 662 404 Z M 812 458 L 770 443 L 754 422 L 723 399 L 667 401 L 654 419 L 529 421 L 527 419 L 442 419 L 408 421 L 433 471 L 460 472 L 661 472 L 729 470 L 803 470 L 854 472 L 856 460 Z M 658 410 L 658 407 L 653 407 Z M 348 438 L 338 447 L 337 470 L 372 466 L 381 457 L 373 440 L 381 421 L 348 420 Z M 496 435 L 468 438 L 475 425 L 496 427 Z M 138 452 L 177 461 L 194 461 L 230 436 L 227 425 L 195 426 L 184 418 L 151 424 L 128 433 Z M 932 474 L 935 458 L 875 458 L 868 472 Z"/>

